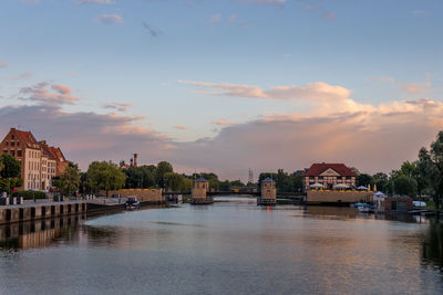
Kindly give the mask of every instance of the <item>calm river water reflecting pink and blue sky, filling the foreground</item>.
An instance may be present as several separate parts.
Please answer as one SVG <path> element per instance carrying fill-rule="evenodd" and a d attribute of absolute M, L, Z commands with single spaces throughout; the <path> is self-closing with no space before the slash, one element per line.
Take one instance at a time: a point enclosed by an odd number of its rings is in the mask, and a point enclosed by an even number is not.
<path fill-rule="evenodd" d="M 443 294 L 434 220 L 216 200 L 2 226 L 0 294 Z"/>

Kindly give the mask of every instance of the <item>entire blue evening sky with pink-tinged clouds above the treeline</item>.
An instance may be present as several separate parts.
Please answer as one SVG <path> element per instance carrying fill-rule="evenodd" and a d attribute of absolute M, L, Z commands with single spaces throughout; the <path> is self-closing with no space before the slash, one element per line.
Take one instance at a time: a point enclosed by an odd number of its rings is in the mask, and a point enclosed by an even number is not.
<path fill-rule="evenodd" d="M 0 134 L 84 170 L 389 172 L 443 130 L 441 0 L 1 0 Z"/>

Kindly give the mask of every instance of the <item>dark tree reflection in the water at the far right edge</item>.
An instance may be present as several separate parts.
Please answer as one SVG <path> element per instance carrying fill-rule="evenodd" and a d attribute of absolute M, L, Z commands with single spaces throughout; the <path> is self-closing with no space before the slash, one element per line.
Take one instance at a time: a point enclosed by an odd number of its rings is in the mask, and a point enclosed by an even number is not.
<path fill-rule="evenodd" d="M 431 220 L 422 242 L 422 259 L 443 267 L 443 224 L 440 220 Z"/>

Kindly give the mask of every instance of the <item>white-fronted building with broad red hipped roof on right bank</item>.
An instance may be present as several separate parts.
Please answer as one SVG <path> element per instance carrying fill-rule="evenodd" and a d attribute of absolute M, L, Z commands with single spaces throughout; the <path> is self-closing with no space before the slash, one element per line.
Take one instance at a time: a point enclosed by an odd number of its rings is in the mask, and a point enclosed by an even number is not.
<path fill-rule="evenodd" d="M 344 164 L 313 164 L 305 175 L 305 191 L 313 183 L 331 188 L 338 183 L 356 187 L 357 175 Z"/>

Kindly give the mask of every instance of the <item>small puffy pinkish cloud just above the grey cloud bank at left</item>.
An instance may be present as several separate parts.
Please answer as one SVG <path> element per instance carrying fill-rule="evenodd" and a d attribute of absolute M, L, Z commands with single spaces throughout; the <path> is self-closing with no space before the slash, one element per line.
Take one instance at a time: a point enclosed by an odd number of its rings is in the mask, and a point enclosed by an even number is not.
<path fill-rule="evenodd" d="M 54 92 L 48 89 L 48 87 Z M 18 98 L 29 101 L 41 105 L 75 105 L 78 97 L 71 94 L 71 87 L 61 84 L 50 84 L 41 82 L 32 86 L 21 87 Z"/>

